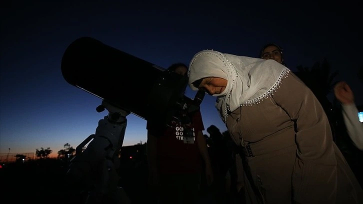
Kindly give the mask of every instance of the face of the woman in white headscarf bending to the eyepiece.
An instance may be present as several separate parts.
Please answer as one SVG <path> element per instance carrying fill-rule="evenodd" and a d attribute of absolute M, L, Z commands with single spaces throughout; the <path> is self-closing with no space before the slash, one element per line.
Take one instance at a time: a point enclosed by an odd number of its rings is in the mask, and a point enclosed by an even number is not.
<path fill-rule="evenodd" d="M 219 77 L 205 77 L 198 85 L 199 90 L 204 90 L 209 95 L 223 92 L 227 86 L 227 80 Z"/>

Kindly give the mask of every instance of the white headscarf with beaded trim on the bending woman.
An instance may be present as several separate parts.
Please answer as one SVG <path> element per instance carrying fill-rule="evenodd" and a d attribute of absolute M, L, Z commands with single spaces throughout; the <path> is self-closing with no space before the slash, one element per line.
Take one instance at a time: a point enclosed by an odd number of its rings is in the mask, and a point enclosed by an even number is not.
<path fill-rule="evenodd" d="M 190 61 L 189 86 L 205 77 L 227 79 L 227 86 L 217 96 L 215 107 L 224 123 L 227 115 L 241 105 L 251 105 L 266 98 L 278 88 L 290 70 L 272 59 L 237 56 L 215 50 L 197 52 Z"/>

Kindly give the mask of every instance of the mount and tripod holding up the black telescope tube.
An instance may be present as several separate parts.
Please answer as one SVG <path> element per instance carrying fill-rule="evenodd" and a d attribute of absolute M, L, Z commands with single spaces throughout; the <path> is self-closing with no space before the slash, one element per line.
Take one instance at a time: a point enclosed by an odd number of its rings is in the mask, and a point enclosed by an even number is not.
<path fill-rule="evenodd" d="M 117 169 L 129 112 L 102 100 L 96 111 L 104 109 L 108 115 L 98 121 L 95 134 L 89 135 L 76 147 L 75 156 L 70 160 L 67 178 L 71 194 L 81 195 L 77 203 L 128 204 L 131 203 L 129 198 L 118 186 L 120 177 Z"/>

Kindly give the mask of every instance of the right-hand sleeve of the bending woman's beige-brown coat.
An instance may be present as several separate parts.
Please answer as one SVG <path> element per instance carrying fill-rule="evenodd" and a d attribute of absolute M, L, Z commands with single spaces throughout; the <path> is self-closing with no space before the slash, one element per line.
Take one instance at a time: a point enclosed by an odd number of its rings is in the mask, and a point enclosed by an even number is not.
<path fill-rule="evenodd" d="M 336 159 L 329 122 L 321 104 L 292 72 L 283 78 L 272 98 L 295 122 L 294 200 L 298 203 L 335 203 Z"/>

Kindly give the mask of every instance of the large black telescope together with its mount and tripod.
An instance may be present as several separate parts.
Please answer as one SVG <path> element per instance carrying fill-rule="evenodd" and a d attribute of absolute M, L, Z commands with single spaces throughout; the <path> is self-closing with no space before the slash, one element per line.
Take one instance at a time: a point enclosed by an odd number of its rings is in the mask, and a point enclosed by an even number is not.
<path fill-rule="evenodd" d="M 61 73 L 69 84 L 102 99 L 97 112 L 108 111 L 70 160 L 67 177 L 72 182 L 69 186 L 74 186 L 72 194 L 86 192 L 86 199 L 81 200 L 88 204 L 130 203 L 117 182 L 126 116 L 132 113 L 154 125 L 166 125 L 175 111 L 199 110 L 205 92 L 188 98 L 184 95 L 186 76 L 91 37 L 69 44 L 61 60 Z"/>

